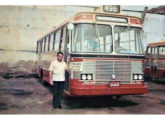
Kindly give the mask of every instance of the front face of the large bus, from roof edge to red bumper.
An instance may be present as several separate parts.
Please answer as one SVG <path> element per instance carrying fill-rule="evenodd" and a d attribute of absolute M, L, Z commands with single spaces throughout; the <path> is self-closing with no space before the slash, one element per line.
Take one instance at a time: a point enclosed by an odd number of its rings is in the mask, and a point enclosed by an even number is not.
<path fill-rule="evenodd" d="M 147 93 L 139 18 L 82 13 L 70 31 L 70 96 Z"/>

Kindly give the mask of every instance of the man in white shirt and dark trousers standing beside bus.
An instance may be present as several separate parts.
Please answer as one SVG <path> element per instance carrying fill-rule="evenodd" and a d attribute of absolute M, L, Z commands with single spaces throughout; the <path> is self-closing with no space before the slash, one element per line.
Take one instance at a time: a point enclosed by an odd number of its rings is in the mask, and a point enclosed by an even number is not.
<path fill-rule="evenodd" d="M 61 98 L 65 83 L 65 70 L 68 71 L 68 67 L 63 61 L 63 56 L 62 52 L 58 52 L 57 60 L 52 61 L 49 67 L 49 75 L 51 76 L 50 85 L 53 86 L 53 107 L 55 109 L 62 109 Z"/>

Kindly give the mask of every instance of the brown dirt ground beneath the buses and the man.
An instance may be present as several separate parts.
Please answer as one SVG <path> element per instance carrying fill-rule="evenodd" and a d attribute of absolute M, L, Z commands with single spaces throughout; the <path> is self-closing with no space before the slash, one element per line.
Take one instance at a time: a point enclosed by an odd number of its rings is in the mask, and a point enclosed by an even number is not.
<path fill-rule="evenodd" d="M 20 62 L 16 67 L 0 64 L 0 114 L 165 114 L 165 83 L 150 81 L 146 81 L 149 92 L 144 95 L 120 99 L 64 96 L 63 109 L 54 110 L 52 87 L 43 86 L 31 72 L 32 67 L 21 69 L 25 63 Z"/>

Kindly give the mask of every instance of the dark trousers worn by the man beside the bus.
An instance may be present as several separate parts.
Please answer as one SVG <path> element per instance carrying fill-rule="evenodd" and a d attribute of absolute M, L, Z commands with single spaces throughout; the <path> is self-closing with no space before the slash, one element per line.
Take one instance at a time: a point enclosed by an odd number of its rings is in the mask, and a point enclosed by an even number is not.
<path fill-rule="evenodd" d="M 64 81 L 53 81 L 53 106 L 61 106 L 61 99 L 64 89 Z"/>

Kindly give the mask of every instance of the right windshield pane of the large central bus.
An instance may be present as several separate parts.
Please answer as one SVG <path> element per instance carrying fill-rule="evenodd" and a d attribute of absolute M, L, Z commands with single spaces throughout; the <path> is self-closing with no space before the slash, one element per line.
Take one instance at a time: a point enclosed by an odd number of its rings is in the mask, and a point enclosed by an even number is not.
<path fill-rule="evenodd" d="M 142 29 L 115 26 L 115 52 L 118 54 L 143 54 Z"/>

